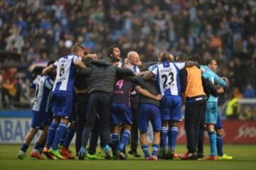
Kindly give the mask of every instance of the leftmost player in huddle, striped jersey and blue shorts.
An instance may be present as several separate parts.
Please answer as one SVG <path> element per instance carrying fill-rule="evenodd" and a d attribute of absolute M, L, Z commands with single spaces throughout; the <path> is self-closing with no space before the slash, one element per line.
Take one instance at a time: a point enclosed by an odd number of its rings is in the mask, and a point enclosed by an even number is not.
<path fill-rule="evenodd" d="M 48 65 L 52 63 L 53 62 L 48 62 Z M 38 137 L 38 141 L 36 142 L 36 145 L 30 155 L 31 157 L 35 157 L 37 159 L 45 159 L 45 157 L 41 155 L 41 152 L 43 150 L 43 146 L 45 145 L 48 128 L 52 120 L 50 114 L 48 113 L 48 106 L 50 102 L 51 90 L 53 88 L 53 76 L 50 76 L 50 73 L 44 76 L 42 74 L 38 74 L 35 75 L 34 78 L 35 79 L 31 84 L 31 89 L 35 89 L 36 91 L 32 108 L 33 117 L 31 128 L 25 137 L 20 152 L 18 152 L 19 159 L 26 158 L 26 150 L 39 129 L 43 130 L 43 132 Z"/>

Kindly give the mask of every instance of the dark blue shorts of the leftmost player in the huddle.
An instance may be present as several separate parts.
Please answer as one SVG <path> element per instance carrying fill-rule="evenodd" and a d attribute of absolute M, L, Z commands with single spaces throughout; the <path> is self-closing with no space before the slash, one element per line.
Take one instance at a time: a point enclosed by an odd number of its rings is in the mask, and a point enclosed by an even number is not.
<path fill-rule="evenodd" d="M 31 128 L 43 130 L 43 127 L 50 125 L 52 120 L 46 112 L 32 111 Z"/>

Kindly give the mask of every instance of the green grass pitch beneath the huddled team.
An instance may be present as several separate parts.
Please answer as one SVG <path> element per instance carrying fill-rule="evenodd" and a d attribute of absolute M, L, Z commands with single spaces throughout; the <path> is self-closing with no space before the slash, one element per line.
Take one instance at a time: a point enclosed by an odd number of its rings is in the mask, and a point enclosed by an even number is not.
<path fill-rule="evenodd" d="M 33 145 L 28 149 L 28 154 Z M 129 160 L 37 160 L 17 159 L 19 145 L 0 145 L 0 169 L 2 170 L 117 170 L 117 169 L 139 169 L 139 170 L 159 170 L 159 169 L 196 169 L 196 170 L 218 170 L 218 169 L 256 169 L 256 145 L 225 145 L 225 153 L 234 157 L 229 161 L 182 161 L 180 159 L 174 160 L 159 160 L 159 161 L 145 161 L 144 159 L 134 159 L 129 156 Z M 71 147 L 74 150 L 74 147 Z M 208 154 L 209 147 L 206 145 L 205 151 Z M 142 149 L 138 148 L 140 154 Z M 186 152 L 185 145 L 178 145 L 177 153 Z"/>

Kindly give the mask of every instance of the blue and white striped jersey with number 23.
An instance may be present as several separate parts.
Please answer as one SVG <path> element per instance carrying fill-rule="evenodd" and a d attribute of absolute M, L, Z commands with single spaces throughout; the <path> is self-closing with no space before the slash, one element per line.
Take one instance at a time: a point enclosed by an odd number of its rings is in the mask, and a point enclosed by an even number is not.
<path fill-rule="evenodd" d="M 151 67 L 156 75 L 161 95 L 181 95 L 179 72 L 185 67 L 185 62 L 161 62 Z"/>

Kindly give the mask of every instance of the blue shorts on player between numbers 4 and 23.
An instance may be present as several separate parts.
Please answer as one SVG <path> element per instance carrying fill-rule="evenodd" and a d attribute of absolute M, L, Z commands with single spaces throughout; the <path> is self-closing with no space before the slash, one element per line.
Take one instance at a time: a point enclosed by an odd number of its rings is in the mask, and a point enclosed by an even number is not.
<path fill-rule="evenodd" d="M 140 104 L 137 114 L 137 123 L 141 132 L 147 132 L 149 121 L 153 126 L 154 132 L 161 130 L 161 115 L 159 107 L 151 104 Z"/>

